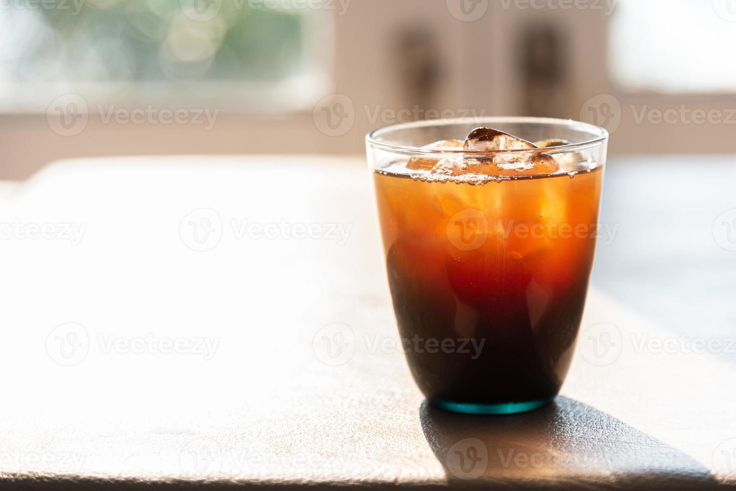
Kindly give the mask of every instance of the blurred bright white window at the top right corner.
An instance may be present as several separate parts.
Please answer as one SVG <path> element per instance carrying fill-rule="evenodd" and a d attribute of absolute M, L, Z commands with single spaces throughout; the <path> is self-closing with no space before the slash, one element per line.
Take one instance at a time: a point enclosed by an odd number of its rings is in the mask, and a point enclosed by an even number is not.
<path fill-rule="evenodd" d="M 618 0 L 610 68 L 627 91 L 736 91 L 736 0 Z"/>

